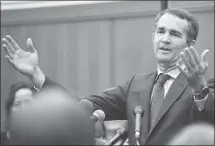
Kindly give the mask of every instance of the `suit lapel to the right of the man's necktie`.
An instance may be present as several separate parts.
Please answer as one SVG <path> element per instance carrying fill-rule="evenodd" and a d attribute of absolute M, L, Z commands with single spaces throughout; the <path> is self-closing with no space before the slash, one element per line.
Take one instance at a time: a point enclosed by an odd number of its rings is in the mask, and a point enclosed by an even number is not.
<path fill-rule="evenodd" d="M 184 75 L 181 73 L 172 83 L 165 99 L 163 105 L 161 107 L 160 113 L 155 119 L 155 124 L 151 128 L 149 135 L 154 130 L 156 124 L 160 121 L 160 119 L 164 116 L 164 114 L 168 111 L 168 109 L 173 105 L 173 103 L 180 97 L 184 89 L 187 87 L 188 83 L 185 79 Z M 148 136 L 149 136 L 148 135 Z"/>

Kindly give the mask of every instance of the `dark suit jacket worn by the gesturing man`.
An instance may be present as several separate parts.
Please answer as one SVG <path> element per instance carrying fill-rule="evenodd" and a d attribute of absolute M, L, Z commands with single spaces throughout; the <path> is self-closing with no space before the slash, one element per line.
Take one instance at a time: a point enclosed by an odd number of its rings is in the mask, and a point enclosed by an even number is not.
<path fill-rule="evenodd" d="M 192 91 L 187 80 L 180 74 L 171 85 L 155 126 L 149 129 L 151 91 L 156 73 L 134 75 L 123 85 L 108 89 L 100 95 L 91 95 L 88 99 L 94 110 L 101 109 L 106 120 L 128 120 L 129 143 L 135 145 L 133 109 L 140 105 L 144 110 L 140 144 L 166 144 L 181 128 L 195 122 L 214 123 L 214 96 L 209 93 L 204 110 L 198 111 L 193 101 Z M 46 79 L 44 86 L 48 85 Z"/>

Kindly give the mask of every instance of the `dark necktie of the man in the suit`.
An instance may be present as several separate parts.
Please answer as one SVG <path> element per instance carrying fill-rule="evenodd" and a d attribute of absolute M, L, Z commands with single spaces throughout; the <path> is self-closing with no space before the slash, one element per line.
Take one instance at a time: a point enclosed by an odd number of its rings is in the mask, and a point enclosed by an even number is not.
<path fill-rule="evenodd" d="M 163 104 L 164 99 L 164 83 L 170 78 L 167 74 L 160 74 L 153 87 L 151 95 L 151 113 L 150 113 L 150 125 L 154 125 L 155 119 L 159 113 L 159 110 Z"/>

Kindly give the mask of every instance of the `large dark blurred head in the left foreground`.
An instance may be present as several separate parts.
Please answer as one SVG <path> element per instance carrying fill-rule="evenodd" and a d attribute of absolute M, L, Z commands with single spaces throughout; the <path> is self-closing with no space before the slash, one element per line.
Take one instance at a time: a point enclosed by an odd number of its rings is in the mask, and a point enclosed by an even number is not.
<path fill-rule="evenodd" d="M 59 88 L 46 88 L 12 114 L 11 143 L 92 145 L 93 126 L 78 101 Z"/>

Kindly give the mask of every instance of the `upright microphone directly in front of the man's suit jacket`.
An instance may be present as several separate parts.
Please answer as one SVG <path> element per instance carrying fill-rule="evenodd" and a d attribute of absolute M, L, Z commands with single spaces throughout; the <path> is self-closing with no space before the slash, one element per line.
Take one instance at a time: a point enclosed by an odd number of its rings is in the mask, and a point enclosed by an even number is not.
<path fill-rule="evenodd" d="M 135 119 L 135 138 L 138 140 L 140 138 L 141 130 L 141 118 L 143 117 L 144 111 L 141 106 L 137 106 L 134 109 Z"/>

